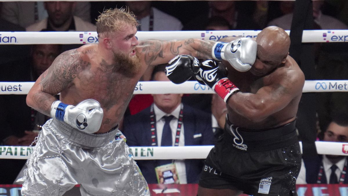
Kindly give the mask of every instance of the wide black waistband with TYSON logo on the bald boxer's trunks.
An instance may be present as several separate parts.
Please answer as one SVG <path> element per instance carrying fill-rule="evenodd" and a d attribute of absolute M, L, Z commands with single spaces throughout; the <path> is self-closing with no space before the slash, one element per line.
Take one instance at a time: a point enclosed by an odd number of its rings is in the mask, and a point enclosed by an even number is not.
<path fill-rule="evenodd" d="M 226 121 L 224 140 L 245 152 L 283 148 L 298 143 L 295 121 L 271 129 L 243 129 Z"/>

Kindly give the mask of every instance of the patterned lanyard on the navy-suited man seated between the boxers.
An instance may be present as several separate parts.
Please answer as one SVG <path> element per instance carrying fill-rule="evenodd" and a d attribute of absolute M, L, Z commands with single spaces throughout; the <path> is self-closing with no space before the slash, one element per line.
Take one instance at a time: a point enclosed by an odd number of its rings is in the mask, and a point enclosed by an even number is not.
<path fill-rule="evenodd" d="M 180 112 L 179 112 L 179 119 L 177 120 L 177 128 L 175 133 L 175 142 L 174 146 L 179 146 L 180 141 L 180 133 L 182 128 L 182 118 L 183 118 L 183 109 L 184 105 L 181 104 Z M 151 145 L 152 146 L 158 146 L 157 145 L 157 131 L 156 131 L 156 114 L 153 110 L 153 104 L 150 108 L 150 132 L 151 132 Z"/>

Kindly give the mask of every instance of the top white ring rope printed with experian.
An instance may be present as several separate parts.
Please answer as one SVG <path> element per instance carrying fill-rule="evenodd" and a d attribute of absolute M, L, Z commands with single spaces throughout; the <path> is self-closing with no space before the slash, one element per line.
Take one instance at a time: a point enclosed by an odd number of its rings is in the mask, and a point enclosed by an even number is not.
<path fill-rule="evenodd" d="M 139 31 L 138 40 L 198 38 L 217 41 L 227 36 L 256 37 L 261 30 L 235 31 Z M 286 31 L 288 34 L 289 30 Z M 348 30 L 303 30 L 303 43 L 348 42 Z M 0 31 L 0 44 L 88 44 L 98 43 L 97 32 L 8 32 Z"/>

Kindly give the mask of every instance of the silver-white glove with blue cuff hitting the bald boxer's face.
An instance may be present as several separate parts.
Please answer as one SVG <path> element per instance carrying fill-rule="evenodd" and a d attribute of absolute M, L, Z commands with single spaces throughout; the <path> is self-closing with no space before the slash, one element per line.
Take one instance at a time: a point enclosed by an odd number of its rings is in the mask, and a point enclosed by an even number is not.
<path fill-rule="evenodd" d="M 237 71 L 247 71 L 254 65 L 258 45 L 251 38 L 239 38 L 232 42 L 216 42 L 212 56 L 215 60 L 226 60 Z"/>

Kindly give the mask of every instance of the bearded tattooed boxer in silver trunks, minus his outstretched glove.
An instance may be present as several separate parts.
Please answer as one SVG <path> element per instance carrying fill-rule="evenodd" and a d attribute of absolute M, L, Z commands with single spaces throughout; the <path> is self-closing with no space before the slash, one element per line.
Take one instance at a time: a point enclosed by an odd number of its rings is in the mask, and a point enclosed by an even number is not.
<path fill-rule="evenodd" d="M 76 184 L 82 195 L 150 195 L 118 123 L 149 66 L 178 54 L 212 58 L 214 42 L 138 42 L 137 25 L 124 9 L 106 10 L 99 43 L 62 53 L 34 83 L 27 104 L 53 119 L 27 160 L 23 195 L 63 195 Z"/>

